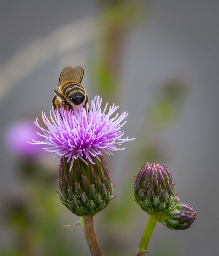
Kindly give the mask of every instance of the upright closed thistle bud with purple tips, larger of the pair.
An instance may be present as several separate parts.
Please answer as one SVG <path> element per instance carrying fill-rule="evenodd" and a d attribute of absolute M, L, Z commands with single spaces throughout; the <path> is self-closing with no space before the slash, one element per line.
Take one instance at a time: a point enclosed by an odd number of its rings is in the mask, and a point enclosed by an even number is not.
<path fill-rule="evenodd" d="M 146 162 L 135 179 L 134 194 L 136 202 L 146 213 L 162 212 L 175 198 L 172 174 L 157 162 Z"/>

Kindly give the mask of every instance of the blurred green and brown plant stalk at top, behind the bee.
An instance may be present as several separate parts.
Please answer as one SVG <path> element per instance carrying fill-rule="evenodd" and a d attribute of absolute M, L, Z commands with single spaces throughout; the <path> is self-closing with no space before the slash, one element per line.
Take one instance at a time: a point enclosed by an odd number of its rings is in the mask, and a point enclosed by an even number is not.
<path fill-rule="evenodd" d="M 141 1 L 101 1 L 101 24 L 90 77 L 93 88 L 109 103 L 120 94 L 120 71 L 126 34 L 146 15 Z M 104 3 L 104 4 L 103 4 Z"/>

